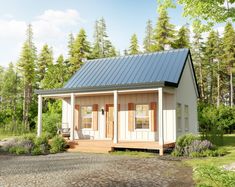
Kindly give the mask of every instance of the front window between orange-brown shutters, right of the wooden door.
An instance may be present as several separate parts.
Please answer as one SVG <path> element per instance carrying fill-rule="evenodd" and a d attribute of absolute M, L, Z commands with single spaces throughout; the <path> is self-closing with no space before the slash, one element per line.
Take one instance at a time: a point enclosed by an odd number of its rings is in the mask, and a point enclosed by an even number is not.
<path fill-rule="evenodd" d="M 135 128 L 149 129 L 149 105 L 135 106 Z"/>

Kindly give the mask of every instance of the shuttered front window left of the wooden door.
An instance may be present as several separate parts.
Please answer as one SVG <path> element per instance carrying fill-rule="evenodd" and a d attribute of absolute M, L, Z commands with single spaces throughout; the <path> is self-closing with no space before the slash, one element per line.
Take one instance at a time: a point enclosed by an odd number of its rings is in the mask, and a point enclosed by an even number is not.
<path fill-rule="evenodd" d="M 82 128 L 91 128 L 92 125 L 92 106 L 81 107 Z"/>

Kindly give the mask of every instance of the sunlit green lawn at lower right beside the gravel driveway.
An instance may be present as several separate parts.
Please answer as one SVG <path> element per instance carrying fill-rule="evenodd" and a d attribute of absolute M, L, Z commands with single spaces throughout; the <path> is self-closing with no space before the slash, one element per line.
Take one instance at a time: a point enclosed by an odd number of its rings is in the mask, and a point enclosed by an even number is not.
<path fill-rule="evenodd" d="M 220 148 L 225 148 L 228 151 L 228 154 L 222 157 L 206 157 L 206 158 L 195 158 L 195 159 L 188 159 L 184 162 L 190 166 L 193 167 L 193 169 L 196 169 L 198 167 L 209 168 L 209 167 L 222 167 L 225 164 L 230 164 L 235 162 L 235 134 L 232 135 L 225 135 L 224 136 L 224 142 L 223 146 L 220 146 Z M 209 171 L 209 170 L 208 170 Z M 210 171 L 209 171 L 210 175 Z M 227 175 L 230 175 L 235 178 L 235 172 L 227 172 L 225 173 L 226 176 L 224 176 L 224 184 L 216 184 L 216 182 L 213 183 L 213 175 L 218 175 L 218 172 L 213 173 L 211 171 L 212 178 L 209 179 L 208 177 L 198 177 L 196 175 L 196 172 L 194 170 L 194 179 L 198 186 L 230 186 L 230 184 L 226 184 L 226 177 Z M 219 174 L 221 175 L 221 174 Z M 232 186 L 231 186 L 232 187 Z"/>

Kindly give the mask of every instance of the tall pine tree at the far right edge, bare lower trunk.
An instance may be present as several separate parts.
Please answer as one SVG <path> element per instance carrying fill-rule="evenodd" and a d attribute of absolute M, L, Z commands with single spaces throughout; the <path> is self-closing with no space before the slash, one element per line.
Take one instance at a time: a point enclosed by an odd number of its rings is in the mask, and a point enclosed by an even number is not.
<path fill-rule="evenodd" d="M 235 67 L 235 31 L 230 22 L 224 29 L 223 37 L 223 58 L 228 67 L 230 105 L 234 105 L 234 67 Z"/>

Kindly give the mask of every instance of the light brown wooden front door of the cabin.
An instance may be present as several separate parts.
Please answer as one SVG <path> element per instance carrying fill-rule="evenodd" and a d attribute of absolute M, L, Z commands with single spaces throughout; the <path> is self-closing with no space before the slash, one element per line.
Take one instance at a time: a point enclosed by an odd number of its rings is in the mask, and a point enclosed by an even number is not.
<path fill-rule="evenodd" d="M 106 115 L 106 137 L 113 139 L 114 134 L 114 108 L 113 105 L 107 106 L 107 115 Z"/>

